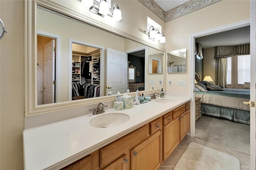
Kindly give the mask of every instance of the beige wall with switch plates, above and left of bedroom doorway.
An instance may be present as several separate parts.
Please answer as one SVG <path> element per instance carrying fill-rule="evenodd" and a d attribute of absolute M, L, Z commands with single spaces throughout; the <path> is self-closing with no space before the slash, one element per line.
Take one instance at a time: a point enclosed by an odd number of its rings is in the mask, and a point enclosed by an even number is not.
<path fill-rule="evenodd" d="M 243 7 L 243 8 L 241 8 Z M 167 91 L 190 93 L 190 35 L 234 22 L 250 19 L 249 0 L 223 0 L 166 23 L 166 51 L 187 49 L 187 72 L 169 73 Z M 186 80 L 186 86 L 178 86 L 178 80 Z"/>

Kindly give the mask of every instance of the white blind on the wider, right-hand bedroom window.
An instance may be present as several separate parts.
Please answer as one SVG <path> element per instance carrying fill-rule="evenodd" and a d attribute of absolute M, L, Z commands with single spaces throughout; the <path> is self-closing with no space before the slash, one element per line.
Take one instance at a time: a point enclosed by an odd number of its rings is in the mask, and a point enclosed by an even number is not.
<path fill-rule="evenodd" d="M 250 82 L 250 55 L 238 55 L 237 57 L 237 80 L 239 85 Z"/>

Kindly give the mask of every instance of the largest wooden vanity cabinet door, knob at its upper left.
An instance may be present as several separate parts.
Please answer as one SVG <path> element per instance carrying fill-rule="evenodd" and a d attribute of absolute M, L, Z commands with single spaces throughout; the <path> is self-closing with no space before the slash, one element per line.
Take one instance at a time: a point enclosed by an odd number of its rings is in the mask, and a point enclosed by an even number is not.
<path fill-rule="evenodd" d="M 161 162 L 161 131 L 131 150 L 131 170 L 158 170 Z"/>

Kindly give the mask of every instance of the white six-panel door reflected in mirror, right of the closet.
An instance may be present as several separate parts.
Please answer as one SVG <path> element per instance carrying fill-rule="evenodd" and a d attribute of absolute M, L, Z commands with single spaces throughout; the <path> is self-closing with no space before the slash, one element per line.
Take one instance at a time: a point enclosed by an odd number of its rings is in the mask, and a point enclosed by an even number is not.
<path fill-rule="evenodd" d="M 107 48 L 106 95 L 118 91 L 125 93 L 127 89 L 127 55 L 123 51 Z"/>

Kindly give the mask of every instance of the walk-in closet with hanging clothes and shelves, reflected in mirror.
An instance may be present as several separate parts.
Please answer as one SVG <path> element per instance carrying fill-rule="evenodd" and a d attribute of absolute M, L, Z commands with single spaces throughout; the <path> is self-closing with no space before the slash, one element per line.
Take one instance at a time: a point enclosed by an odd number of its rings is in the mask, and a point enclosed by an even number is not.
<path fill-rule="evenodd" d="M 100 97 L 100 50 L 72 43 L 72 100 Z"/>

